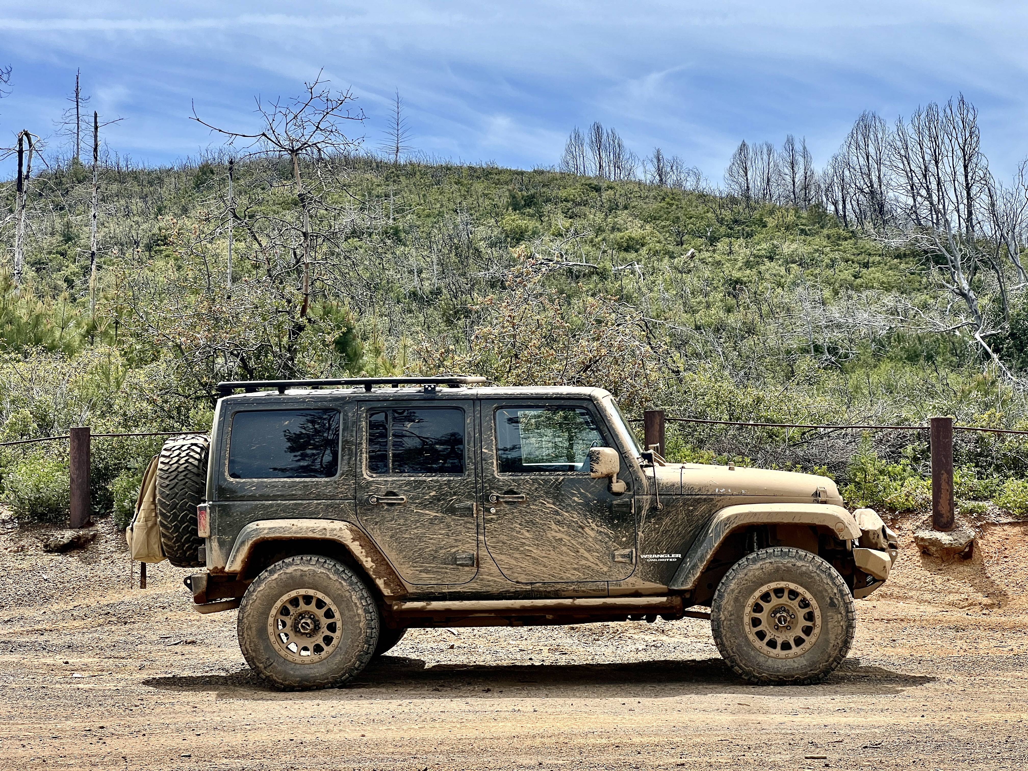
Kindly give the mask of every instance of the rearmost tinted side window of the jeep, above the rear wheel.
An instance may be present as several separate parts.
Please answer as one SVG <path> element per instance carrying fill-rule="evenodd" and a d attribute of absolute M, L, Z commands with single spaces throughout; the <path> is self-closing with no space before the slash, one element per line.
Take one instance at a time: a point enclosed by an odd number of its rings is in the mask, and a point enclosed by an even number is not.
<path fill-rule="evenodd" d="M 228 447 L 233 479 L 317 479 L 339 471 L 339 411 L 236 412 Z"/>

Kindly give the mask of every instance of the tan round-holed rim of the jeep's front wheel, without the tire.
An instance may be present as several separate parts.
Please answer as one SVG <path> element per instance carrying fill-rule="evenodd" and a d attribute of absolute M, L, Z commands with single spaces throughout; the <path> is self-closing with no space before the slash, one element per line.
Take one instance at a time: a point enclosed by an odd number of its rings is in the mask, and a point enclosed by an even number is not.
<path fill-rule="evenodd" d="M 774 581 L 749 596 L 746 637 L 773 659 L 794 659 L 809 651 L 821 633 L 817 600 L 799 584 Z"/>

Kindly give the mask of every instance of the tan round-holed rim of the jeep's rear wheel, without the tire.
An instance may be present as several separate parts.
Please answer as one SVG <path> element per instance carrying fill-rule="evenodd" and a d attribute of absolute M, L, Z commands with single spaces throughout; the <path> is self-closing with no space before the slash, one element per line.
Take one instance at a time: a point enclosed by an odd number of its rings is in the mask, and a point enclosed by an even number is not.
<path fill-rule="evenodd" d="M 339 610 L 313 589 L 283 594 L 267 618 L 271 646 L 295 664 L 324 661 L 339 647 Z"/>

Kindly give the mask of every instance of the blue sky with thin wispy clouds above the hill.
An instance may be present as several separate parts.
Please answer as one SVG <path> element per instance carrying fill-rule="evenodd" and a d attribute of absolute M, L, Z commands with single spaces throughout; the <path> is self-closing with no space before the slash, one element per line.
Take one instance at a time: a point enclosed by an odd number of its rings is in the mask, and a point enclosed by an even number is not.
<path fill-rule="evenodd" d="M 221 146 L 193 106 L 250 131 L 256 96 L 296 96 L 324 70 L 358 98 L 369 149 L 398 90 L 430 157 L 550 167 L 599 120 L 715 183 L 742 139 L 805 137 L 820 164 L 864 110 L 891 121 L 962 93 L 1005 176 L 1028 155 L 1026 37 L 1028 3 L 994 0 L 0 0 L 0 146 L 28 128 L 60 148 L 76 69 L 89 109 L 122 118 L 109 148 L 147 164 Z"/>

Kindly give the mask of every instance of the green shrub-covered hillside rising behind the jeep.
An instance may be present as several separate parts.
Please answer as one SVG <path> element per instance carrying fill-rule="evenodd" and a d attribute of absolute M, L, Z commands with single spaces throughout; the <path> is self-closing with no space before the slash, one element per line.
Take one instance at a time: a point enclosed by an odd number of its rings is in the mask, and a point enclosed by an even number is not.
<path fill-rule="evenodd" d="M 223 379 L 444 371 L 601 386 L 636 415 L 659 406 L 897 424 L 949 413 L 1028 428 L 1024 392 L 966 331 L 925 324 L 947 297 L 923 259 L 858 236 L 819 206 L 334 158 L 301 170 L 304 262 L 294 170 L 241 159 L 229 291 L 224 161 L 101 169 L 93 313 L 91 172 L 66 163 L 32 181 L 24 284 L 3 280 L 0 441 L 79 424 L 204 428 Z M 14 195 L 5 185 L 8 213 Z M 13 228 L 9 218 L 0 232 L 8 255 Z M 1028 313 L 1023 299 L 1014 307 L 994 347 L 1017 371 L 1028 364 L 1017 319 Z M 925 439 L 688 426 L 672 428 L 669 454 L 821 469 L 851 503 L 924 511 Z M 156 441 L 96 443 L 98 507 L 131 494 Z M 1028 514 L 1026 452 L 1023 441 L 961 435 L 964 508 Z M 5 449 L 0 464 L 15 511 L 56 516 L 67 477 L 57 445 Z"/>

